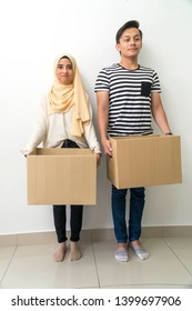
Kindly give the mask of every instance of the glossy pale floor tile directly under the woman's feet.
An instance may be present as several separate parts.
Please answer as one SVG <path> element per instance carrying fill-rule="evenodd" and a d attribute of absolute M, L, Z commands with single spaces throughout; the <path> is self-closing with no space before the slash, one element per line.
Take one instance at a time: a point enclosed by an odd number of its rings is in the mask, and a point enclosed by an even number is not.
<path fill-rule="evenodd" d="M 67 252 L 61 263 L 52 260 L 55 244 L 18 247 L 1 288 L 98 288 L 92 245 L 89 242 L 80 245 L 81 260 L 70 261 Z"/>

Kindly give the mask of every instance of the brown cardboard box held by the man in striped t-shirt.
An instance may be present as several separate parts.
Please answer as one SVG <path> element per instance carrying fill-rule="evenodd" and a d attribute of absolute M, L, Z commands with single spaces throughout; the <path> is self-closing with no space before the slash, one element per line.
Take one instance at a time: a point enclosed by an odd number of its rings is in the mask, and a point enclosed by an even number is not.
<path fill-rule="evenodd" d="M 118 188 L 182 182 L 178 136 L 113 137 L 107 158 L 108 179 Z"/>

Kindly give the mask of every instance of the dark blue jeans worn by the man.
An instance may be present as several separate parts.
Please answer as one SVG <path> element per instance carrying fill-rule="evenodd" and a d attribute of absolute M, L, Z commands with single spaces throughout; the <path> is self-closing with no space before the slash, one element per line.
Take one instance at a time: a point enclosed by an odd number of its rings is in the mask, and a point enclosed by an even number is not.
<path fill-rule="evenodd" d="M 127 192 L 128 189 L 117 189 L 112 184 L 112 217 L 114 234 L 118 243 L 139 240 L 141 235 L 141 220 L 144 208 L 144 188 L 130 189 L 130 211 L 127 228 Z"/>

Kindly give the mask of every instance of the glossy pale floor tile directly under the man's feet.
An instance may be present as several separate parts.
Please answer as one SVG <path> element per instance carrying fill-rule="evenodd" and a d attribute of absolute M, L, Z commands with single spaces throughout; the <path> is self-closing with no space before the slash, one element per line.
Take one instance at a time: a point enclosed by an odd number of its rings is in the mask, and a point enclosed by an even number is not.
<path fill-rule="evenodd" d="M 93 243 L 101 288 L 191 287 L 192 277 L 163 240 L 145 239 L 142 244 L 150 252 L 148 260 L 139 260 L 130 250 L 130 261 L 120 263 L 113 258 L 114 241 Z"/>

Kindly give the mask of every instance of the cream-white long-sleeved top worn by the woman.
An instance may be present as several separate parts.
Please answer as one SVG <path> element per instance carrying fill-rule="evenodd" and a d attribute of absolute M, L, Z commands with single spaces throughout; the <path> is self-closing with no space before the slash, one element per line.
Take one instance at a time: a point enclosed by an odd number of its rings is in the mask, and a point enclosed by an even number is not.
<path fill-rule="evenodd" d="M 37 122 L 33 133 L 22 152 L 24 154 L 31 153 L 40 144 L 43 148 L 59 148 L 65 139 L 74 141 L 80 148 L 90 148 L 95 153 L 101 153 L 100 144 L 98 142 L 95 130 L 92 122 L 92 107 L 89 101 L 89 110 L 91 121 L 84 124 L 84 136 L 71 136 L 71 118 L 73 107 L 65 113 L 48 114 L 47 96 L 40 100 Z"/>

